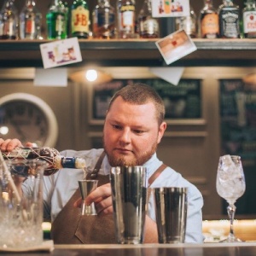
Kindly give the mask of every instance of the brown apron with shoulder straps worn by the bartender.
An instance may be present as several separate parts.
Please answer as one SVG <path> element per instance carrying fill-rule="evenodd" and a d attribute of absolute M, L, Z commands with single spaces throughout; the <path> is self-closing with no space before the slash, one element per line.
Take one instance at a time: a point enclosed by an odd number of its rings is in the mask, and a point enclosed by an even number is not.
<path fill-rule="evenodd" d="M 100 175 L 98 172 L 105 156 L 103 152 L 93 172 L 86 178 L 98 179 L 98 186 L 109 183 L 108 175 Z M 148 179 L 148 185 L 154 182 L 166 168 L 160 166 Z M 155 174 L 156 173 L 156 174 Z M 102 216 L 81 215 L 81 209 L 73 207 L 73 203 L 81 197 L 79 189 L 63 207 L 51 226 L 51 238 L 55 244 L 109 244 L 117 243 L 114 230 L 113 214 Z"/>

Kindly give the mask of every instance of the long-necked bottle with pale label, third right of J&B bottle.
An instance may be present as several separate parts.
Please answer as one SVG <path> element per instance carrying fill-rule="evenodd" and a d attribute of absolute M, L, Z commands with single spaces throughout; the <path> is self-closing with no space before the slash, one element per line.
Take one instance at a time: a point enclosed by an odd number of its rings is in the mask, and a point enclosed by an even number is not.
<path fill-rule="evenodd" d="M 140 38 L 159 38 L 159 22 L 152 17 L 151 0 L 144 0 L 137 20 Z"/>

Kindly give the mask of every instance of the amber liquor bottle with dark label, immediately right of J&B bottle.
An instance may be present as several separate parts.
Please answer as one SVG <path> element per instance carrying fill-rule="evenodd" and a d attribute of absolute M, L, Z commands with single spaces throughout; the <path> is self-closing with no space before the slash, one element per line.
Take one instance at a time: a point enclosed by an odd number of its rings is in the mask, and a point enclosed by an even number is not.
<path fill-rule="evenodd" d="M 92 13 L 92 32 L 94 38 L 115 37 L 115 10 L 108 0 L 98 0 Z"/>

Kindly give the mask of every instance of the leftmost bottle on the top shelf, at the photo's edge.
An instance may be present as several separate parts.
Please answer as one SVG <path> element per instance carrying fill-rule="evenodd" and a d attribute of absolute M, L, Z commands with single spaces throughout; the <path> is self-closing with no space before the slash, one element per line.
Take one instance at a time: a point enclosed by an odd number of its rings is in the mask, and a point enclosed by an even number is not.
<path fill-rule="evenodd" d="M 15 0 L 6 0 L 0 13 L 0 39 L 17 39 L 18 22 Z"/>

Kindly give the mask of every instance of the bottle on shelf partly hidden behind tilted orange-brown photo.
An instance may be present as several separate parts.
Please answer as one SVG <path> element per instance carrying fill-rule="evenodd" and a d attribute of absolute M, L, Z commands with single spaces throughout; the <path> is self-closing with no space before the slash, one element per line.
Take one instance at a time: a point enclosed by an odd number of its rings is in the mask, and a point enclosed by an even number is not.
<path fill-rule="evenodd" d="M 190 38 L 197 37 L 196 15 L 195 11 L 190 5 L 189 16 L 181 16 L 175 18 L 176 30 L 183 29 Z"/>

